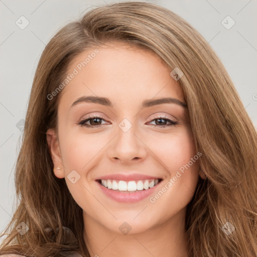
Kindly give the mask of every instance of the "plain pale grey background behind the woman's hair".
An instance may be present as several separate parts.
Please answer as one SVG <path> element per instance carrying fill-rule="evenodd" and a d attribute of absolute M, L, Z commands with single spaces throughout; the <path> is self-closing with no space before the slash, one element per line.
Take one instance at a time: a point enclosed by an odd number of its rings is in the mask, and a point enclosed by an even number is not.
<path fill-rule="evenodd" d="M 257 1 L 149 0 L 147 2 L 170 9 L 203 35 L 225 65 L 256 127 Z M 25 118 L 32 81 L 41 53 L 58 29 L 80 18 L 85 11 L 105 3 L 113 1 L 0 0 L 1 232 L 14 212 L 14 165 L 22 137 L 22 131 L 17 126 L 22 123 L 20 120 Z M 16 25 L 21 16 L 29 21 L 29 25 L 23 30 Z M 227 16 L 235 22 L 230 29 L 226 29 L 221 23 Z M 229 20 L 226 23 L 231 24 Z"/>

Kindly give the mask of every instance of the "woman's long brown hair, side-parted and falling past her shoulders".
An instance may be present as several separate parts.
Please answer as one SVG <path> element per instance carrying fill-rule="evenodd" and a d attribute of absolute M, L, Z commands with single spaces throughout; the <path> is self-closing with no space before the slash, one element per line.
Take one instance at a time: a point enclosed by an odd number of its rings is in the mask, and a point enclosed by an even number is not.
<path fill-rule="evenodd" d="M 46 131 L 56 128 L 62 83 L 71 61 L 106 41 L 148 49 L 179 83 L 188 105 L 199 165 L 198 181 L 187 206 L 189 257 L 257 255 L 257 135 L 221 61 L 185 20 L 160 6 L 123 2 L 90 10 L 62 28 L 46 46 L 33 81 L 22 147 L 16 163 L 18 207 L 3 232 L 0 253 L 27 256 L 89 256 L 83 239 L 82 209 L 64 179 L 53 173 Z M 24 222 L 22 235 L 16 227 Z M 224 225 L 233 228 L 225 233 Z M 233 230 L 232 229 L 232 230 Z M 9 233 L 6 233 L 7 230 Z"/>

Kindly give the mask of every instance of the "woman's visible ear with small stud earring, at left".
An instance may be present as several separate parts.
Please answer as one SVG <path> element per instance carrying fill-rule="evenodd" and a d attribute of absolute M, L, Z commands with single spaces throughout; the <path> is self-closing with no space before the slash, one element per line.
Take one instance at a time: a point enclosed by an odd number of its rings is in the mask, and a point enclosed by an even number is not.
<path fill-rule="evenodd" d="M 48 149 L 54 164 L 54 174 L 57 178 L 62 179 L 64 178 L 64 168 L 62 164 L 59 141 L 55 130 L 49 129 L 46 133 L 46 139 L 47 139 Z M 57 167 L 60 167 L 61 169 L 58 170 L 56 169 Z"/>

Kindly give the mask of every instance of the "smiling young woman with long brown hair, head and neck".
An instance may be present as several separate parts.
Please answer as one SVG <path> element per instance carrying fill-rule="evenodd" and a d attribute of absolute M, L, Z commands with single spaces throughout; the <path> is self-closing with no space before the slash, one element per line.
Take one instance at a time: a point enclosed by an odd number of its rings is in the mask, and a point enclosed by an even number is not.
<path fill-rule="evenodd" d="M 0 253 L 256 256 L 256 154 L 195 29 L 154 4 L 96 8 L 39 61 Z"/>

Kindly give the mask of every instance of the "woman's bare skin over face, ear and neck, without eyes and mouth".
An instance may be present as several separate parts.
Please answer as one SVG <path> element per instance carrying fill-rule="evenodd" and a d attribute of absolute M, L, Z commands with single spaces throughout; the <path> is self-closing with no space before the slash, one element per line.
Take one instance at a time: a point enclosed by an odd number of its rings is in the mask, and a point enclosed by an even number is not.
<path fill-rule="evenodd" d="M 68 74 L 94 49 L 77 56 Z M 65 178 L 83 209 L 84 239 L 91 256 L 187 256 L 185 211 L 199 179 L 197 161 L 155 203 L 149 197 L 137 203 L 116 202 L 95 181 L 107 174 L 140 173 L 162 178 L 164 186 L 196 155 L 187 108 L 164 103 L 140 109 L 152 98 L 185 103 L 183 91 L 150 51 L 120 42 L 97 49 L 99 54 L 62 91 L 58 131 L 47 132 L 54 167 L 61 167 L 54 174 Z M 113 107 L 81 102 L 71 108 L 81 96 L 107 97 Z M 103 118 L 96 120 L 101 125 L 93 127 L 92 119 L 92 127 L 78 125 L 88 114 Z M 164 115 L 178 124 L 158 123 Z M 132 124 L 127 132 L 118 126 L 124 118 Z M 72 170 L 80 175 L 74 184 L 67 178 Z M 119 230 L 123 222 L 131 227 L 128 234 Z"/>

